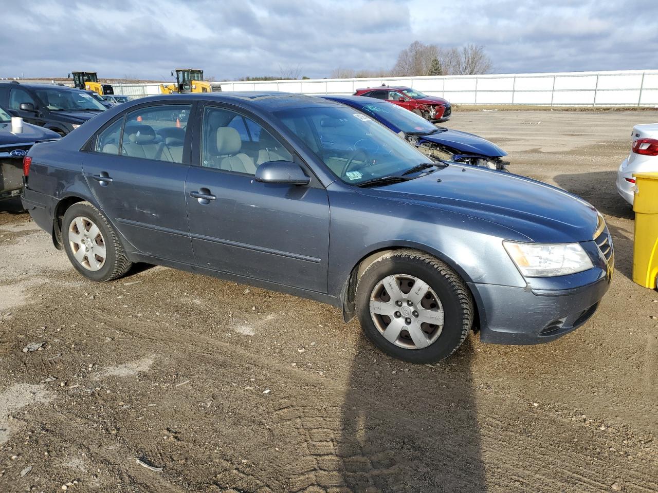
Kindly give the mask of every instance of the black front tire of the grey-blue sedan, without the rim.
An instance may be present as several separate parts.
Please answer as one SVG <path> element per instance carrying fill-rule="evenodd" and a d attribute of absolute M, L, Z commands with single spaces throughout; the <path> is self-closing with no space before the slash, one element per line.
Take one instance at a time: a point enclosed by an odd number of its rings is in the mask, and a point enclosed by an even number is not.
<path fill-rule="evenodd" d="M 390 275 L 411 275 L 427 283 L 443 308 L 443 327 L 438 339 L 424 348 L 393 344 L 380 332 L 370 314 L 370 298 L 380 281 Z M 361 327 L 378 348 L 389 356 L 411 363 L 436 363 L 461 346 L 472 326 L 474 303 L 466 283 L 438 258 L 408 248 L 378 258 L 363 272 L 357 283 L 357 316 Z"/>

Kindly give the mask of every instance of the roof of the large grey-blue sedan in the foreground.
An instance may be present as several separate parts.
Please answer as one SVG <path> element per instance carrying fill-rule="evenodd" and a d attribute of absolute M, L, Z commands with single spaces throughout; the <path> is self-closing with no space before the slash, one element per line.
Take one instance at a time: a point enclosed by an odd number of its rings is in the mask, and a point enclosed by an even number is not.
<path fill-rule="evenodd" d="M 131 103 L 141 104 L 155 101 L 168 101 L 172 97 L 190 100 L 217 101 L 232 103 L 245 108 L 259 111 L 278 111 L 290 108 L 307 108 L 308 106 L 334 106 L 336 103 L 317 96 L 307 96 L 298 93 L 284 93 L 278 91 L 235 91 L 221 93 L 185 93 L 174 95 L 156 95 L 136 99 Z M 128 104 L 128 103 L 126 103 Z"/>

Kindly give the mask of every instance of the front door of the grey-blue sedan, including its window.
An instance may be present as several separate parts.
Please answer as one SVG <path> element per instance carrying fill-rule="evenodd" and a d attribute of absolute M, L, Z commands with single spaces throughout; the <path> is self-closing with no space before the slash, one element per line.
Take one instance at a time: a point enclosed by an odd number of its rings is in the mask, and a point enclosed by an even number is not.
<path fill-rule="evenodd" d="M 326 293 L 326 190 L 254 179 L 263 162 L 301 162 L 255 117 L 207 106 L 200 133 L 186 185 L 199 266 Z"/>

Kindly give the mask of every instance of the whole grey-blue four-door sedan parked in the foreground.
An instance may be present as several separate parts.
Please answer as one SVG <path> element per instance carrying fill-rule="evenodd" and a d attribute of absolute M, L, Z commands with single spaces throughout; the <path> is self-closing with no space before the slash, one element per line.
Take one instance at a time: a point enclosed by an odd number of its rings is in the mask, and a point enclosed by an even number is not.
<path fill-rule="evenodd" d="M 345 145 L 327 145 L 338 134 Z M 24 206 L 88 279 L 147 262 L 296 294 L 358 316 L 409 362 L 449 356 L 474 325 L 484 342 L 557 339 L 594 314 L 613 272 L 584 200 L 430 163 L 318 97 L 131 101 L 35 145 L 25 171 Z"/>

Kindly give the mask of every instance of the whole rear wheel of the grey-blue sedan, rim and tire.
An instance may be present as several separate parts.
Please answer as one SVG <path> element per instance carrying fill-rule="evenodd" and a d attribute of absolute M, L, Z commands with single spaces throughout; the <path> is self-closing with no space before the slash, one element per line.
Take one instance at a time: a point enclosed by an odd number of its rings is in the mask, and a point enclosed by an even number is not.
<path fill-rule="evenodd" d="M 66 210 L 62 238 L 68 260 L 92 281 L 118 279 L 132 266 L 107 218 L 89 202 Z"/>

